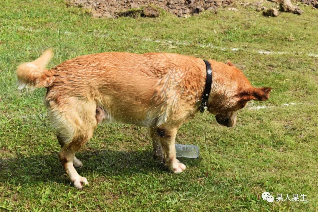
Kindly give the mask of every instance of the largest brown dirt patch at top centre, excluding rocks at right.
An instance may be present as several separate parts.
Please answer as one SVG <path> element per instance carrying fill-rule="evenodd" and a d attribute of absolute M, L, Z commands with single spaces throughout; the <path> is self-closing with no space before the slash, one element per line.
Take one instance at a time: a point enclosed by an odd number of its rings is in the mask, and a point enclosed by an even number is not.
<path fill-rule="evenodd" d="M 66 0 L 68 6 L 91 9 L 93 17 L 157 17 L 162 8 L 178 17 L 232 5 L 234 0 Z"/>

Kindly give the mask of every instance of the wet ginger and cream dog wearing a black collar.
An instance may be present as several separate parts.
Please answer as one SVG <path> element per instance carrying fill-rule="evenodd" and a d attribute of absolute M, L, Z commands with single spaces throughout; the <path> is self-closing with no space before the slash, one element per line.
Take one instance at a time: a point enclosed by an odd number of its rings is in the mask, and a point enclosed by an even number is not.
<path fill-rule="evenodd" d="M 232 127 L 239 109 L 250 100 L 267 100 L 271 91 L 253 87 L 230 61 L 105 52 L 45 69 L 52 55 L 47 50 L 33 62 L 19 65 L 18 89 L 47 88 L 44 104 L 61 145 L 59 160 L 79 189 L 88 181 L 75 170 L 83 166 L 75 153 L 101 122 L 149 127 L 154 157 L 180 173 L 186 166 L 176 159 L 175 138 L 184 122 L 207 109 L 219 124 Z"/>

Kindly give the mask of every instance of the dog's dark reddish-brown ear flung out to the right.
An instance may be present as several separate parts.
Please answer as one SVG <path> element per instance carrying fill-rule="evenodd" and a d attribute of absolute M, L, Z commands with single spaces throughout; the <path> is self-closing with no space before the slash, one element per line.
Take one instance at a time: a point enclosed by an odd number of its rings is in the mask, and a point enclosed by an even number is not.
<path fill-rule="evenodd" d="M 250 101 L 250 100 L 258 100 L 265 101 L 269 98 L 269 93 L 272 88 L 269 87 L 261 87 L 261 88 L 250 88 L 247 91 L 243 91 L 239 94 L 241 101 Z"/>

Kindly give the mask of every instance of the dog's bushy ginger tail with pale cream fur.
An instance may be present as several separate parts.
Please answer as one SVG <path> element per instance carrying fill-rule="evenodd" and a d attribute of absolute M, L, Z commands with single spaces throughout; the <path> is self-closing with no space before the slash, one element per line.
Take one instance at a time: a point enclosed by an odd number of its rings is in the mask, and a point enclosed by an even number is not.
<path fill-rule="evenodd" d="M 17 67 L 18 89 L 28 86 L 49 87 L 52 85 L 55 72 L 45 69 L 52 56 L 52 49 L 48 49 L 33 62 L 19 65 Z"/>

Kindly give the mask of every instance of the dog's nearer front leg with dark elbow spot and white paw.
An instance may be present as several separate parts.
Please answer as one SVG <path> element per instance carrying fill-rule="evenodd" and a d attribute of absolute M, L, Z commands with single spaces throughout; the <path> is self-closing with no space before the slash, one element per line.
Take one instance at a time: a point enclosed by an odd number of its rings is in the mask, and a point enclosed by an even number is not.
<path fill-rule="evenodd" d="M 165 161 L 170 171 L 180 173 L 186 168 L 184 164 L 176 159 L 175 138 L 178 129 L 157 128 L 158 137 L 165 155 Z"/>

